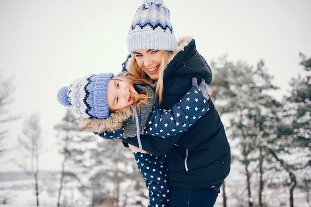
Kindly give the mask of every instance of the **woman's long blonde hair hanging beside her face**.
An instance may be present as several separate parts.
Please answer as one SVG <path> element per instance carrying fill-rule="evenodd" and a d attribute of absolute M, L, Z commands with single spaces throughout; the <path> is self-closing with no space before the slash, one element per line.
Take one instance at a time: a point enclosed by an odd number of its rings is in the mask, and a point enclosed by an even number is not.
<path fill-rule="evenodd" d="M 157 80 L 152 80 L 138 65 L 135 59 L 135 56 L 132 55 L 132 57 L 128 60 L 128 62 L 126 63 L 126 68 L 127 71 L 133 75 L 133 77 L 136 77 L 135 80 L 137 79 L 143 79 L 143 80 L 148 80 L 149 82 L 154 82 L 155 88 L 156 88 L 156 92 L 155 92 L 155 96 L 156 96 L 156 106 L 159 106 L 160 103 L 162 102 L 162 96 L 163 96 L 163 74 L 164 74 L 164 70 L 167 66 L 167 60 L 168 58 L 172 55 L 172 52 L 170 51 L 166 51 L 166 50 L 162 50 L 162 57 L 161 57 L 161 61 L 162 64 L 160 64 L 160 68 L 159 68 L 159 77 Z"/>

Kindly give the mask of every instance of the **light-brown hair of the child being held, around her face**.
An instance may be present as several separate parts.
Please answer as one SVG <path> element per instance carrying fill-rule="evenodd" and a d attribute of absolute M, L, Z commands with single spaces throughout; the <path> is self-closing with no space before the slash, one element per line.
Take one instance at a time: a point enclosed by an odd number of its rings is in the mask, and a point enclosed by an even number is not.
<path fill-rule="evenodd" d="M 135 76 L 133 76 L 132 74 L 127 73 L 127 72 L 122 74 L 122 77 L 115 76 L 115 77 L 111 78 L 111 80 L 124 81 L 124 82 L 127 82 L 128 84 L 130 84 L 133 87 L 135 85 L 140 85 L 140 84 L 151 86 L 151 83 L 148 80 L 141 79 L 141 78 L 136 78 Z M 140 105 L 141 104 L 151 104 L 150 102 L 148 102 L 149 99 L 153 99 L 153 98 L 149 97 L 148 92 L 146 90 L 143 90 L 135 98 L 133 106 L 136 108 L 136 110 L 140 111 Z M 114 111 L 112 111 L 112 112 L 114 112 Z"/>

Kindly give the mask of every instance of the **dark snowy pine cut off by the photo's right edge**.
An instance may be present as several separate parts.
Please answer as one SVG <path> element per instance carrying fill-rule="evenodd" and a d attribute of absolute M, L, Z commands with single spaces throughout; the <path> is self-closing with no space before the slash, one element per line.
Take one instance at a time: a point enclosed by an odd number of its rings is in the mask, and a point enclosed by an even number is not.
<path fill-rule="evenodd" d="M 287 140 L 285 151 L 295 153 L 301 159 L 295 159 L 291 165 L 287 165 L 288 171 L 300 175 L 299 187 L 306 192 L 306 198 L 310 204 L 311 189 L 311 58 L 300 54 L 305 76 L 299 75 L 290 81 L 291 91 L 288 97 L 284 97 L 284 120 L 280 125 L 278 134 Z M 291 175 L 291 174 L 290 174 Z M 292 176 L 292 175 L 291 175 Z M 291 177 L 290 204 L 294 206 L 293 191 L 296 187 L 296 178 Z"/>

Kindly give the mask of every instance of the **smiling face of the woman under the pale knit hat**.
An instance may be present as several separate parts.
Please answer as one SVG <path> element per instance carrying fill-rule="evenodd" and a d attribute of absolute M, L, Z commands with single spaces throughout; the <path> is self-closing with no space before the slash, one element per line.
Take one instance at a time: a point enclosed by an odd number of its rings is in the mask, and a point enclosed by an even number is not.
<path fill-rule="evenodd" d="M 136 50 L 133 52 L 138 67 L 153 80 L 159 78 L 162 54 L 163 50 Z"/>

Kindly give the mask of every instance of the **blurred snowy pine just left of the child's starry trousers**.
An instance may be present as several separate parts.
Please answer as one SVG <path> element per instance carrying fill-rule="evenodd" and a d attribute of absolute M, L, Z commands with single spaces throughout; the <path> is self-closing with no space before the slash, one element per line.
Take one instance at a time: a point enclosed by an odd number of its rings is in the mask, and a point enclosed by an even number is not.
<path fill-rule="evenodd" d="M 96 139 L 97 146 L 90 151 L 94 162 L 87 167 L 95 172 L 90 178 L 92 205 L 126 206 L 128 198 L 146 191 L 133 152 L 125 148 L 121 140 L 104 140 L 99 136 Z"/>

